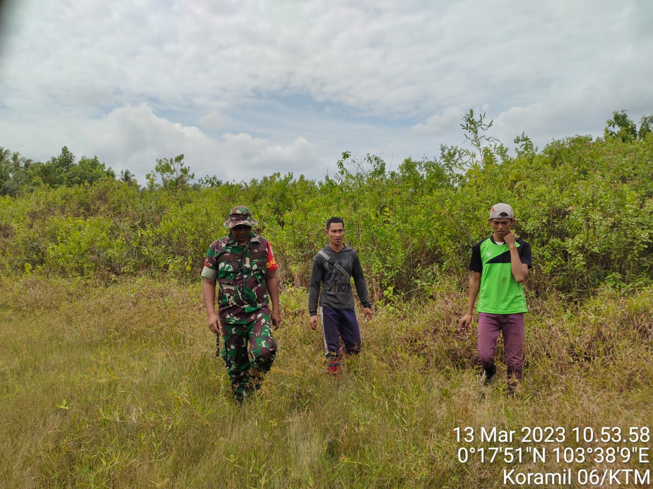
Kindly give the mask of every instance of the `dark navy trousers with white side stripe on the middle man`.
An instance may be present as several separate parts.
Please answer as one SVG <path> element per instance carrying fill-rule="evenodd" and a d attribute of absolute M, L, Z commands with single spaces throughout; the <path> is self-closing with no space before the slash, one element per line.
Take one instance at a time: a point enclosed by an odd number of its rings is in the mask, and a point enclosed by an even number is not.
<path fill-rule="evenodd" d="M 360 351 L 360 329 L 358 329 L 354 308 L 321 307 L 318 314 L 322 319 L 322 334 L 327 357 L 340 355 L 340 338 L 345 344 L 345 351 L 350 355 Z"/>

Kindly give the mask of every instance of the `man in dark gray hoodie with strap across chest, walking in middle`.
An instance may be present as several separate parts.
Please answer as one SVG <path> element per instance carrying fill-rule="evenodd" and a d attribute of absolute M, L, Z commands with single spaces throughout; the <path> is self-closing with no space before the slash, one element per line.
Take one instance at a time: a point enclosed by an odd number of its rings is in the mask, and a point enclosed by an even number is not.
<path fill-rule="evenodd" d="M 360 351 L 360 329 L 354 309 L 351 277 L 354 278 L 358 299 L 363 306 L 366 320 L 372 319 L 372 308 L 358 254 L 343 243 L 345 224 L 342 218 L 330 218 L 327 221 L 325 234 L 328 237 L 328 244 L 313 258 L 308 313 L 311 316 L 311 329 L 317 329 L 319 297 L 327 368 L 330 374 L 338 374 L 343 353 L 340 338 L 347 354 L 356 355 Z"/>

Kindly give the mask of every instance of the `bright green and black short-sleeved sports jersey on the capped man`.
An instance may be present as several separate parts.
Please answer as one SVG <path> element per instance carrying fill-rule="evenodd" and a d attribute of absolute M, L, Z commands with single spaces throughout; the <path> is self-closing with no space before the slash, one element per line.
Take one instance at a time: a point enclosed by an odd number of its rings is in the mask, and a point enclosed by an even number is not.
<path fill-rule="evenodd" d="M 521 262 L 532 268 L 530 244 L 523 239 L 518 239 L 515 244 Z M 470 270 L 481 273 L 478 312 L 516 314 L 528 311 L 524 288 L 513 276 L 507 244 L 496 244 L 491 236 L 474 244 Z"/>

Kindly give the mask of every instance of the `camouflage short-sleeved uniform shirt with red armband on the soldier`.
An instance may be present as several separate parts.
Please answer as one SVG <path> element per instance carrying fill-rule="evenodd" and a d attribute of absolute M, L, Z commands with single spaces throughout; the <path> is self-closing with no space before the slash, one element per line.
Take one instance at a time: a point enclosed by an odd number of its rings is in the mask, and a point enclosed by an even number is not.
<path fill-rule="evenodd" d="M 276 269 L 272 247 L 261 235 L 251 233 L 246 246 L 236 243 L 231 233 L 214 241 L 206 252 L 202 276 L 217 281 L 220 321 L 249 323 L 261 313 L 270 314 L 265 276 Z"/>

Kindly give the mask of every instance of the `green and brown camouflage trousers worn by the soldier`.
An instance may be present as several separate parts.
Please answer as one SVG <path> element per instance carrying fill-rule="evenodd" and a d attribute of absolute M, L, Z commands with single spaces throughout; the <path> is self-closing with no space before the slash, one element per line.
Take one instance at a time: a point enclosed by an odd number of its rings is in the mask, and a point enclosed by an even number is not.
<path fill-rule="evenodd" d="M 223 325 L 227 334 L 220 356 L 227 366 L 231 390 L 240 402 L 261 388 L 264 374 L 272 368 L 277 343 L 272 336 L 272 321 L 268 314 L 259 314 L 250 323 Z M 217 341 L 219 348 L 219 337 Z"/>

